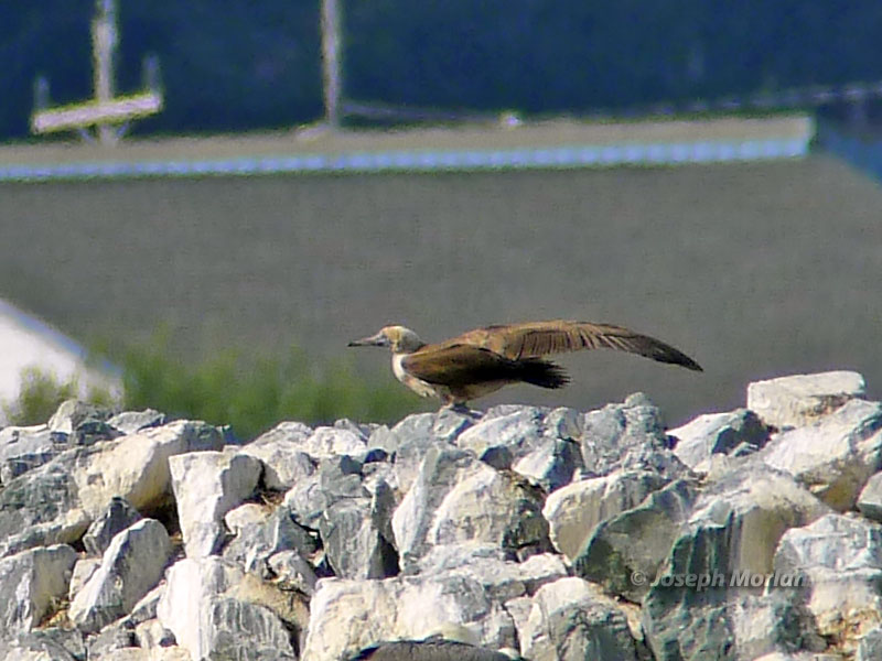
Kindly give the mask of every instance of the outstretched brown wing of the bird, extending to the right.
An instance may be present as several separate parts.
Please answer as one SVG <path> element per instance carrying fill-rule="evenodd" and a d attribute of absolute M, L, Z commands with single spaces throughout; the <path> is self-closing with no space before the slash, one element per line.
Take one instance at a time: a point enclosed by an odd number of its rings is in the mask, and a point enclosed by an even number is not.
<path fill-rule="evenodd" d="M 564 351 L 609 348 L 702 371 L 698 362 L 673 346 L 612 324 L 555 319 L 485 326 L 463 333 L 443 344 L 481 347 L 513 360 Z"/>

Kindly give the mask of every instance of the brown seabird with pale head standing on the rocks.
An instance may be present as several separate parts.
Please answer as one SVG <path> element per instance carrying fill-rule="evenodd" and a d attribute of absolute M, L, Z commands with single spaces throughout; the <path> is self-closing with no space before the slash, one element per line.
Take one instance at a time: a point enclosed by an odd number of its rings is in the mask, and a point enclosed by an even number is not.
<path fill-rule="evenodd" d="M 563 369 L 541 359 L 548 354 L 610 348 L 702 371 L 689 356 L 648 335 L 611 324 L 562 319 L 486 326 L 437 344 L 426 344 L 410 328 L 386 326 L 349 346 L 389 347 L 396 378 L 449 407 L 465 405 L 509 383 L 566 386 L 569 378 Z"/>

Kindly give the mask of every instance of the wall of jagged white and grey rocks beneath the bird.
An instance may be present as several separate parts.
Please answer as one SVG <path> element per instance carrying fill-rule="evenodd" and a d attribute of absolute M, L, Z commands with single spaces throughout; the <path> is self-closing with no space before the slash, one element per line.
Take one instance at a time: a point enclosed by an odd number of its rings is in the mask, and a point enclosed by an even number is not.
<path fill-rule="evenodd" d="M 882 658 L 882 404 L 0 430 L 0 660 Z"/>

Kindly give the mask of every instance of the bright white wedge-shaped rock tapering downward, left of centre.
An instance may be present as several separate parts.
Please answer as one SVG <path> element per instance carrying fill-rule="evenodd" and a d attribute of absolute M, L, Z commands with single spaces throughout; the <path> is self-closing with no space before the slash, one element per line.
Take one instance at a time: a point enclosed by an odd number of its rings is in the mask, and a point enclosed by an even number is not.
<path fill-rule="evenodd" d="M 224 452 L 193 452 L 169 459 L 178 517 L 189 557 L 211 555 L 225 535 L 224 514 L 254 494 L 259 459 Z"/>

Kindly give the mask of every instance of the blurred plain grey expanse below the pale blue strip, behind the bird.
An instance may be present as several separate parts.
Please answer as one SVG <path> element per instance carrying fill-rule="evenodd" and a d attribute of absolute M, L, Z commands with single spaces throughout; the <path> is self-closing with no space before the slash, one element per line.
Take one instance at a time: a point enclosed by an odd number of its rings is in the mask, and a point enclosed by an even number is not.
<path fill-rule="evenodd" d="M 390 322 L 433 340 L 488 323 L 606 321 L 707 372 L 598 351 L 562 360 L 564 391 L 486 402 L 589 409 L 644 390 L 673 423 L 743 404 L 750 380 L 785 372 L 853 368 L 882 383 L 882 191 L 824 154 L 0 188 L 7 295 L 87 343 L 143 342 L 165 325 L 181 357 L 297 345 L 391 380 L 387 355 L 346 342 Z"/>

